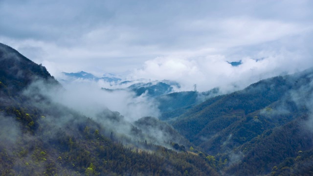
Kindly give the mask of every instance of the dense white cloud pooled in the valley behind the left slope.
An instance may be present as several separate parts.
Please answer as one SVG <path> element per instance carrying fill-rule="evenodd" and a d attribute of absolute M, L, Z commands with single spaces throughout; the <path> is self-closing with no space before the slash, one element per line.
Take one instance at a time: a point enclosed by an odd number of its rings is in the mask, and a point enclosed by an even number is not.
<path fill-rule="evenodd" d="M 103 81 L 77 79 L 64 84 L 65 90 L 45 90 L 54 102 L 76 110 L 93 119 L 97 119 L 99 113 L 104 110 L 118 111 L 128 122 L 133 122 L 144 116 L 159 114 L 157 104 L 147 97 L 135 97 L 134 93 L 126 90 L 108 92 L 101 90 L 105 86 Z M 40 86 L 37 85 L 38 87 Z M 108 85 L 107 85 L 108 86 Z"/>

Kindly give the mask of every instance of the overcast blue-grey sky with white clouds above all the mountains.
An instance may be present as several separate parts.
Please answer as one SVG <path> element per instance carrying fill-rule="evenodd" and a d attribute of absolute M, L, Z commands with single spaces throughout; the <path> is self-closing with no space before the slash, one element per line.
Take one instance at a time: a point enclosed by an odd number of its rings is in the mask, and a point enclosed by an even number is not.
<path fill-rule="evenodd" d="M 0 42 L 56 77 L 246 86 L 313 66 L 312 9 L 312 0 L 0 0 Z"/>

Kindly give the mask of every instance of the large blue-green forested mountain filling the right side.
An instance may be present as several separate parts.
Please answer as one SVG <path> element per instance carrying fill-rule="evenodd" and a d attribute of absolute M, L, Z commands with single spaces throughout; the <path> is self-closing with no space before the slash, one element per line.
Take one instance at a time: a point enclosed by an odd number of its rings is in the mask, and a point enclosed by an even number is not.
<path fill-rule="evenodd" d="M 312 81 L 313 69 L 262 80 L 210 98 L 172 125 L 204 152 L 226 159 L 225 175 L 310 175 L 311 163 L 306 169 L 296 163 L 312 156 Z"/>

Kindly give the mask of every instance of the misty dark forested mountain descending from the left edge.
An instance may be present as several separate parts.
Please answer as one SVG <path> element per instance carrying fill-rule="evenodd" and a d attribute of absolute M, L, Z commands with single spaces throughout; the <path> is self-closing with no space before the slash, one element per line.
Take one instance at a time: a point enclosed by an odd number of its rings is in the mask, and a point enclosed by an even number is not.
<path fill-rule="evenodd" d="M 175 133 L 156 119 L 146 117 L 147 123 L 141 119 L 134 126 L 107 109 L 91 119 L 55 102 L 51 92 L 64 88 L 45 67 L 4 44 L 0 44 L 0 71 L 3 176 L 218 175 L 207 154 L 181 150 L 179 141 L 165 141 L 168 147 L 152 143 L 156 134 L 144 133 L 152 123 L 156 132 Z"/>

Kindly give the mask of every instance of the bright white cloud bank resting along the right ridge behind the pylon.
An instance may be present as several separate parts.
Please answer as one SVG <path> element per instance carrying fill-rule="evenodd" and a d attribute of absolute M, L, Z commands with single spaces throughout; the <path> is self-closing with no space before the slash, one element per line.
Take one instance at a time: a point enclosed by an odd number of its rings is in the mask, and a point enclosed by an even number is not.
<path fill-rule="evenodd" d="M 312 34 L 297 37 L 311 39 L 311 36 Z M 284 40 L 281 41 L 283 42 Z M 191 90 L 193 84 L 198 84 L 200 91 L 215 87 L 221 87 L 226 92 L 232 91 L 245 88 L 261 79 L 311 67 L 311 46 L 302 48 L 306 42 L 298 41 L 300 47 L 292 47 L 293 50 L 288 50 L 287 44 L 278 49 L 269 49 L 268 46 L 276 45 L 276 42 L 269 42 L 260 50 L 251 48 L 246 50 L 248 54 L 242 53 L 235 58 L 226 54 L 159 57 L 146 61 L 143 68 L 134 71 L 133 77 L 177 80 L 184 90 Z M 227 63 L 239 60 L 243 63 L 240 66 Z"/>

